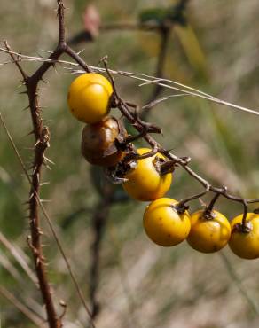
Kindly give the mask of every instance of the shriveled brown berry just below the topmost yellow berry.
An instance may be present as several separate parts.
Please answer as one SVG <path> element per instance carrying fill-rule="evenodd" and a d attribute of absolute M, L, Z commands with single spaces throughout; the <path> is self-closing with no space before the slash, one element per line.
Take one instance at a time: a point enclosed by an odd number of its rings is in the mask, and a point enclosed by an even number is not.
<path fill-rule="evenodd" d="M 82 130 L 82 155 L 91 164 L 112 167 L 124 156 L 118 141 L 125 136 L 125 129 L 114 117 L 86 125 Z"/>

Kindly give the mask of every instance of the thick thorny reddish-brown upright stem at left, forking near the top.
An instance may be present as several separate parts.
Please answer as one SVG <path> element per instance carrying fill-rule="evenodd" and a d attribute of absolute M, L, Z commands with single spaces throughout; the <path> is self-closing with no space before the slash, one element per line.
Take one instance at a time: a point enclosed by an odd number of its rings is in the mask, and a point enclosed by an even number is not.
<path fill-rule="evenodd" d="M 40 181 L 41 173 L 44 164 L 44 152 L 50 146 L 50 133 L 46 126 L 43 126 L 43 119 L 41 116 L 41 109 L 38 100 L 38 84 L 43 80 L 43 75 L 49 70 L 51 66 L 54 66 L 54 62 L 59 59 L 63 53 L 67 53 L 71 58 L 82 66 L 82 68 L 90 72 L 90 68 L 84 63 L 84 61 L 66 44 L 65 38 L 65 21 L 64 21 L 64 3 L 63 0 L 57 0 L 58 3 L 58 20 L 59 20 L 59 42 L 58 45 L 49 57 L 50 61 L 45 61 L 34 74 L 28 76 L 19 63 L 19 56 L 15 56 L 10 52 L 10 56 L 15 65 L 20 70 L 23 82 L 26 86 L 26 94 L 29 101 L 29 109 L 31 113 L 31 119 L 33 123 L 33 134 L 35 135 L 35 158 L 33 161 L 33 168 L 31 174 L 31 189 L 29 191 L 29 223 L 31 236 L 28 238 L 28 244 L 32 250 L 32 254 L 35 262 L 35 271 L 40 287 L 40 291 L 43 297 L 43 303 L 46 308 L 47 321 L 50 328 L 59 328 L 62 326 L 62 317 L 57 315 L 53 298 L 51 286 L 48 281 L 46 273 L 46 263 L 43 256 L 43 247 L 41 243 L 41 235 L 43 234 L 40 228 L 39 217 L 39 203 L 38 195 L 40 194 Z M 10 51 L 8 43 L 4 43 L 6 50 Z M 93 326 L 94 324 L 91 323 Z"/>

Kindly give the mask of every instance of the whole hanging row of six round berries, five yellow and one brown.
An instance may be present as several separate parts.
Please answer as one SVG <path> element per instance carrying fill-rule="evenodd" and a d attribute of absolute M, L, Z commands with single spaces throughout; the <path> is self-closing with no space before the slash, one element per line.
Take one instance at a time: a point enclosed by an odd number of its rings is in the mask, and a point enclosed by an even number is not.
<path fill-rule="evenodd" d="M 71 83 L 68 92 L 70 111 L 86 124 L 82 131 L 82 155 L 91 164 L 115 167 L 125 152 L 120 140 L 127 131 L 114 117 L 108 116 L 113 87 L 101 74 L 82 74 Z M 139 155 L 149 148 L 137 149 Z M 147 236 L 160 246 L 176 246 L 187 240 L 202 253 L 214 253 L 227 244 L 234 254 L 244 259 L 259 257 L 259 215 L 248 213 L 246 226 L 243 215 L 228 219 L 209 206 L 192 215 L 177 207 L 175 199 L 164 198 L 172 183 L 172 173 L 161 173 L 157 164 L 165 158 L 161 153 L 136 160 L 123 176 L 124 190 L 131 198 L 151 201 L 143 218 Z"/>

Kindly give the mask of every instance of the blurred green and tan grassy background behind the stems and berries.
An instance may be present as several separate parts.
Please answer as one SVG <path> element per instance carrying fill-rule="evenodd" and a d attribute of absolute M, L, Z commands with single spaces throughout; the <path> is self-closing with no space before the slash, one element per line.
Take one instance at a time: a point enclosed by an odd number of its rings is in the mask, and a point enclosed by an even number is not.
<path fill-rule="evenodd" d="M 108 56 L 115 70 L 157 75 L 206 91 L 217 98 L 259 108 L 259 5 L 257 0 L 190 0 L 184 22 L 174 22 L 161 58 L 161 33 L 137 28 L 112 28 L 114 23 L 160 24 L 177 1 L 120 0 L 94 2 L 100 15 L 98 34 L 91 42 L 73 45 L 82 58 L 97 66 Z M 66 0 L 69 39 L 83 31 L 88 1 Z M 92 3 L 93 4 L 93 3 Z M 58 30 L 53 0 L 0 0 L 0 37 L 14 51 L 47 57 Z M 146 12 L 153 8 L 152 12 Z M 85 16 L 84 16 L 85 17 Z M 182 17 L 182 18 L 183 18 Z M 84 20 L 85 21 L 85 20 Z M 66 59 L 66 57 L 64 57 Z M 4 53 L 0 62 L 9 60 Z M 34 72 L 38 62 L 24 62 Z M 160 67 L 161 68 L 161 67 Z M 200 254 L 185 242 L 162 248 L 146 238 L 142 215 L 146 203 L 128 199 L 121 186 L 107 186 L 102 170 L 90 167 L 80 153 L 83 124 L 67 108 L 67 88 L 74 76 L 57 65 L 41 84 L 43 118 L 51 130 L 47 156 L 55 163 L 43 169 L 42 199 L 59 234 L 97 328 L 245 328 L 259 325 L 258 260 L 241 260 L 228 246 L 216 254 Z M 153 85 L 116 76 L 122 98 L 138 105 L 153 98 Z M 12 64 L 0 66 L 0 111 L 27 167 L 34 144 L 26 95 L 20 94 L 20 74 Z M 160 90 L 160 97 L 172 95 Z M 115 110 L 115 116 L 119 115 Z M 178 156 L 191 156 L 200 176 L 244 198 L 259 194 L 258 118 L 200 98 L 170 98 L 156 105 L 145 119 L 163 129 L 157 139 Z M 139 143 L 145 145 L 145 143 Z M 104 189 L 104 186 L 106 188 Z M 105 190 L 105 191 L 104 191 Z M 178 168 L 169 196 L 183 199 L 201 190 L 200 184 Z M 42 299 L 33 283 L 34 269 L 27 246 L 27 195 L 10 142 L 0 128 L 0 317 L 3 327 L 34 327 L 10 301 L 10 294 L 39 316 Z M 211 195 L 203 198 L 208 201 Z M 192 210 L 200 202 L 192 202 Z M 239 204 L 219 199 L 217 208 L 232 219 Z M 253 209 L 253 207 L 251 207 Z M 85 327 L 88 317 L 65 263 L 44 219 L 43 244 L 54 299 L 67 302 L 65 327 Z M 27 273 L 12 255 L 27 263 Z M 12 252 L 11 252 L 12 250 Z"/>

